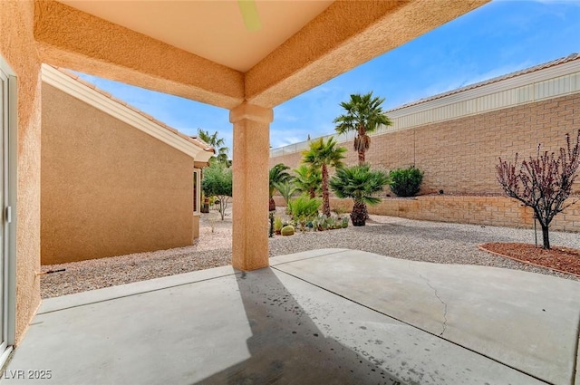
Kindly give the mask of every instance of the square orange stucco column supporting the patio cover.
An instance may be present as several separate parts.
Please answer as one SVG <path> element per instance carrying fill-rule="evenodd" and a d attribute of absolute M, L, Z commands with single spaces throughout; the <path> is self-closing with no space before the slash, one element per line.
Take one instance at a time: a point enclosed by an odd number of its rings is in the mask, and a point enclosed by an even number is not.
<path fill-rule="evenodd" d="M 268 159 L 272 109 L 240 104 L 234 123 L 232 265 L 239 270 L 268 266 Z"/>

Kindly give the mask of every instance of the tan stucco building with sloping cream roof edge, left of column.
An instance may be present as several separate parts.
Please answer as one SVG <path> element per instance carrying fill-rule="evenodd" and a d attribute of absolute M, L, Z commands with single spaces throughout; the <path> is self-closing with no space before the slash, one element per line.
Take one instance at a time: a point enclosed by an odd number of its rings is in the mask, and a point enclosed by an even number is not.
<path fill-rule="evenodd" d="M 43 65 L 41 263 L 192 245 L 214 150 Z"/>

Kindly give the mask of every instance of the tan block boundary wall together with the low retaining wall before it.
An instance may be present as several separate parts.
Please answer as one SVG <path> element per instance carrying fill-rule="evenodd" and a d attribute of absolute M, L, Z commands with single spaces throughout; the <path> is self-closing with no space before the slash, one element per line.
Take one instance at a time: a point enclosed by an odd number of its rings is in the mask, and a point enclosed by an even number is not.
<path fill-rule="evenodd" d="M 533 226 L 529 208 L 503 197 L 496 179 L 498 158 L 513 161 L 516 152 L 520 159 L 536 156 L 538 143 L 543 150 L 557 151 L 565 147 L 565 134 L 575 140 L 577 130 L 580 130 L 579 93 L 372 136 L 366 160 L 374 167 L 393 169 L 414 164 L 425 175 L 422 196 L 386 197 L 380 205 L 370 207 L 370 212 L 443 222 Z M 353 143 L 342 145 L 348 149 L 346 163 L 356 164 Z M 285 163 L 295 168 L 300 161 L 299 153 L 287 154 L 271 158 L 270 166 Z M 445 193 L 442 196 L 428 195 L 441 189 Z M 580 177 L 574 192 L 580 194 Z M 276 202 L 285 205 L 282 198 Z M 334 199 L 333 205 L 348 208 L 352 203 Z M 556 216 L 552 228 L 580 232 L 580 202 Z"/>

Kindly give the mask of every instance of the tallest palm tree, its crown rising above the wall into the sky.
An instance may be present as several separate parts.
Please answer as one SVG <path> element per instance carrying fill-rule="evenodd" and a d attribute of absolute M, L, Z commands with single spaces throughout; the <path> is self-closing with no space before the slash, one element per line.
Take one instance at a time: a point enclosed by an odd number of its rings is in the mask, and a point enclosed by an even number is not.
<path fill-rule="evenodd" d="M 385 126 L 392 124 L 382 111 L 383 101 L 384 98 L 373 98 L 372 91 L 362 96 L 358 93 L 351 95 L 350 101 L 341 103 L 346 113 L 334 120 L 334 123 L 338 123 L 335 130 L 339 134 L 356 131 L 354 150 L 359 154 L 359 165 L 364 164 L 364 153 L 371 147 L 371 138 L 368 134 L 377 130 L 381 124 Z"/>

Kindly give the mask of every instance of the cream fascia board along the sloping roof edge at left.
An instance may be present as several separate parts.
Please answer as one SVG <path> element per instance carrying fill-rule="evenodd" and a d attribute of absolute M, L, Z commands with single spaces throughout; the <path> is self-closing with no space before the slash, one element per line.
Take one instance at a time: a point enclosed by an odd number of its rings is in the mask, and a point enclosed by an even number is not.
<path fill-rule="evenodd" d="M 213 155 L 211 152 L 199 148 L 189 140 L 181 138 L 178 134 L 149 120 L 139 112 L 132 111 L 130 108 L 117 101 L 113 101 L 101 92 L 94 91 L 81 82 L 75 81 L 70 76 L 54 69 L 50 65 L 43 64 L 42 76 L 43 82 L 68 93 L 80 101 L 84 101 L 97 110 L 105 112 L 113 118 L 129 124 L 137 130 L 145 132 L 151 137 L 162 141 L 174 149 L 178 149 L 196 161 L 208 161 L 208 159 Z"/>

